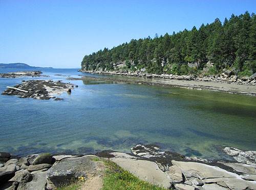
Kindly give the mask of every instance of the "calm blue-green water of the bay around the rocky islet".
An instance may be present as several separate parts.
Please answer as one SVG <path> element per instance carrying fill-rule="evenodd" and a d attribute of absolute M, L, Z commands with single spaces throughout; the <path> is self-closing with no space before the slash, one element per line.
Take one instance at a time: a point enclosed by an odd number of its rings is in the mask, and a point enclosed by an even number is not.
<path fill-rule="evenodd" d="M 16 155 L 129 152 L 138 143 L 156 143 L 188 156 L 225 158 L 220 151 L 223 146 L 256 150 L 255 97 L 69 81 L 68 75 L 82 73 L 77 69 L 41 70 L 51 79 L 79 87 L 71 95 L 61 95 L 63 101 L 0 95 L 0 151 Z M 10 71 L 15 70 L 0 70 Z M 0 78 L 0 92 L 24 79 L 31 78 Z"/>

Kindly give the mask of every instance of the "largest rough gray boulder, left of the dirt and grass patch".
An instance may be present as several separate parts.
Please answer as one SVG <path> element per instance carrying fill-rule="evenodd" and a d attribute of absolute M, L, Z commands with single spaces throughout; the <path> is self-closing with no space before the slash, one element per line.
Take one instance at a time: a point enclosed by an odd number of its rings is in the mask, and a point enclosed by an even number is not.
<path fill-rule="evenodd" d="M 69 184 L 79 176 L 87 177 L 88 174 L 97 172 L 97 164 L 92 158 L 95 156 L 62 159 L 47 171 L 47 177 L 56 187 Z"/>

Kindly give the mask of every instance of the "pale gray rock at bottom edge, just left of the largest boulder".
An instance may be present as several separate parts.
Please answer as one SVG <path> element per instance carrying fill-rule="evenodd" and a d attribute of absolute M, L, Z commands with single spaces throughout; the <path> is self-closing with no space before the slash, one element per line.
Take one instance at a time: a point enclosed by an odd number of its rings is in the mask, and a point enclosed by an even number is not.
<path fill-rule="evenodd" d="M 17 190 L 42 190 L 46 188 L 47 172 L 32 174 L 32 180 L 27 183 L 20 183 Z"/>

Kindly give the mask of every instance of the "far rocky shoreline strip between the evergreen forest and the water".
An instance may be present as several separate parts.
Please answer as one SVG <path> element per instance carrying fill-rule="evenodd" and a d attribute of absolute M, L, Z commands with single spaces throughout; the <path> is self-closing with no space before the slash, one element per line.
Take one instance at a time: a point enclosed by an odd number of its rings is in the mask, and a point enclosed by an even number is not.
<path fill-rule="evenodd" d="M 173 86 L 187 89 L 197 90 L 211 90 L 231 94 L 251 95 L 256 96 L 256 73 L 251 77 L 243 77 L 239 79 L 235 75 L 226 75 L 222 73 L 219 77 L 195 77 L 193 75 L 157 75 L 146 74 L 143 72 L 129 73 L 129 72 L 116 72 L 116 71 L 88 71 L 79 70 L 80 72 L 92 74 L 108 74 L 127 76 L 126 78 L 107 78 L 107 77 L 94 77 L 94 80 L 112 80 L 123 83 L 136 83 L 145 85 L 158 85 L 158 86 Z M 93 78 L 83 76 L 86 78 Z M 131 80 L 130 77 L 133 77 Z M 134 79 L 137 78 L 137 79 Z"/>

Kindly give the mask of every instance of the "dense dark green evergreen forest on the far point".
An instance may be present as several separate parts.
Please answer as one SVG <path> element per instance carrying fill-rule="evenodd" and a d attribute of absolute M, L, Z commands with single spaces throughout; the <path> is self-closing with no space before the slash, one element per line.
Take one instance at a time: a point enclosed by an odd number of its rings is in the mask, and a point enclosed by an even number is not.
<path fill-rule="evenodd" d="M 120 63 L 122 67 L 115 67 Z M 224 68 L 240 76 L 256 72 L 254 13 L 232 14 L 223 23 L 216 18 L 199 29 L 194 26 L 172 35 L 132 39 L 84 56 L 81 66 L 86 70 L 143 69 L 147 73 L 182 75 L 201 73 L 206 63 L 212 65 L 207 74 L 217 74 Z"/>

